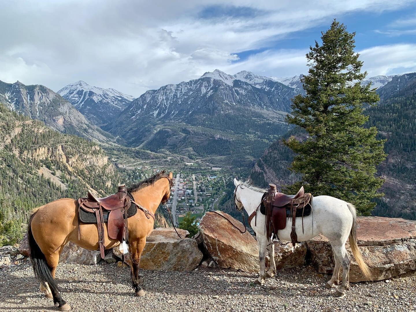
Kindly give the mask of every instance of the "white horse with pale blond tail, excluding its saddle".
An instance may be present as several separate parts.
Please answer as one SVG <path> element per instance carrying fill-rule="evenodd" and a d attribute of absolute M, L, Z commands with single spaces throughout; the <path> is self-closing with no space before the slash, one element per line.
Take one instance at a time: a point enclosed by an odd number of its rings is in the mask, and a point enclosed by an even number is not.
<path fill-rule="evenodd" d="M 235 206 L 238 211 L 243 208 L 251 215 L 260 205 L 262 196 L 267 190 L 256 188 L 247 182 L 234 179 L 235 185 Z M 240 187 L 238 187 L 240 186 Z M 318 234 L 323 234 L 331 243 L 334 253 L 335 268 L 332 278 L 325 285 L 331 289 L 339 285 L 339 270 L 342 266 L 342 285 L 338 288 L 335 295 L 342 297 L 349 290 L 349 257 L 345 249 L 345 243 L 349 237 L 351 246 L 357 264 L 364 275 L 371 280 L 369 267 L 364 263 L 357 245 L 356 235 L 356 211 L 351 203 L 347 203 L 338 198 L 331 196 L 316 196 L 312 200 L 313 215 L 303 217 L 304 231 L 302 232 L 302 222 L 296 223 L 297 240 L 299 242 L 310 240 Z M 255 222 L 257 218 L 257 222 Z M 313 218 L 313 220 L 312 220 Z M 267 238 L 265 233 L 265 215 L 257 210 L 256 216 L 251 221 L 251 227 L 256 233 L 257 243 L 259 246 L 260 258 L 260 275 L 256 284 L 263 285 L 266 277 L 273 277 L 276 274 L 276 264 L 274 259 L 275 246 Z M 313 221 L 313 222 L 312 222 Z M 292 222 L 286 220 L 286 228 L 279 230 L 277 236 L 282 240 L 291 241 L 290 232 L 292 231 Z M 269 252 L 270 269 L 265 272 L 265 253 Z"/>

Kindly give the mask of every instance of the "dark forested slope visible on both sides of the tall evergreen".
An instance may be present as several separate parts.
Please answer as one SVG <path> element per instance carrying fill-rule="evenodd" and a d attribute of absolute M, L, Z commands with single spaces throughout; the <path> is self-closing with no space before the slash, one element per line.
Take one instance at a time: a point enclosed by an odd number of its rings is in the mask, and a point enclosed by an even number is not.
<path fill-rule="evenodd" d="M 416 81 L 405 80 L 413 80 L 414 74 L 398 77 L 377 90 L 385 99 L 366 111 L 367 126 L 376 126 L 378 139 L 387 139 L 384 151 L 389 154 L 377 168 L 386 180 L 381 187 L 385 196 L 377 201 L 373 214 L 416 220 Z M 399 81 L 402 84 L 393 92 L 392 84 Z M 283 138 L 290 135 L 302 137 L 299 130 L 292 129 Z M 292 184 L 296 176 L 287 167 L 293 156 L 281 140 L 274 142 L 256 162 L 250 178 L 263 187 L 268 183 L 276 183 L 278 188 Z"/>

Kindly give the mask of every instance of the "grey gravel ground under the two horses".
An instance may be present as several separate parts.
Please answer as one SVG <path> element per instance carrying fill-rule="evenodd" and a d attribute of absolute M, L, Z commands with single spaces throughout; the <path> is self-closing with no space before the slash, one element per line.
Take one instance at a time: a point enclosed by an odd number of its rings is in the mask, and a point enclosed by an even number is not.
<path fill-rule="evenodd" d="M 416 311 L 415 272 L 352 284 L 343 298 L 310 266 L 281 270 L 265 286 L 253 284 L 255 274 L 230 270 L 141 274 L 145 297 L 134 295 L 129 268 L 115 264 L 60 264 L 57 280 L 72 311 Z M 0 269 L 0 294 L 0 311 L 57 310 L 27 262 Z"/>

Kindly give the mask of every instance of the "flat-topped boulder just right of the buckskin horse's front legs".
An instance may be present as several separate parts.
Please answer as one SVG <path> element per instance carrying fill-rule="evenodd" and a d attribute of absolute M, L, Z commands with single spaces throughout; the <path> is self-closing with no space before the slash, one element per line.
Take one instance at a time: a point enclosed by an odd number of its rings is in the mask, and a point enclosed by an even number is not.
<path fill-rule="evenodd" d="M 173 228 L 156 228 L 146 238 L 146 245 L 140 258 L 140 267 L 146 270 L 192 271 L 202 260 L 196 240 L 187 238 L 189 232 Z M 113 253 L 120 257 L 119 248 Z M 130 260 L 126 257 L 126 262 Z"/>

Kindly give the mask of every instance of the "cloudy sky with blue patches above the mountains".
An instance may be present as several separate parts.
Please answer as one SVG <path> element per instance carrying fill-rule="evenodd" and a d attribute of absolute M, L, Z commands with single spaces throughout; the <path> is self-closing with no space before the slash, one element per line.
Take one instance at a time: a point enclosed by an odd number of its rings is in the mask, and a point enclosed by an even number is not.
<path fill-rule="evenodd" d="M 139 96 L 214 69 L 290 77 L 333 18 L 369 76 L 416 72 L 416 1 L 3 0 L 0 80 Z"/>

